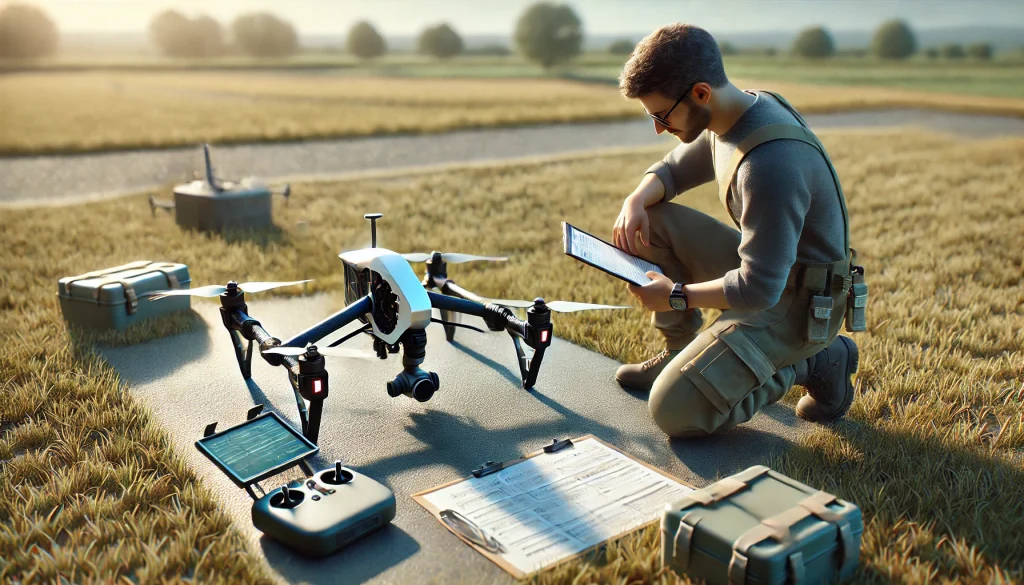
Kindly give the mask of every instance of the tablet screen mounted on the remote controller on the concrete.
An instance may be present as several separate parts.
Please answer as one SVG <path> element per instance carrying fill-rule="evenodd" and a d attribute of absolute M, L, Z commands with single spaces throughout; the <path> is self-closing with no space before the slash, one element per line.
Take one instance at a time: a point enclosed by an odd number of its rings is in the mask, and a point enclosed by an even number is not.
<path fill-rule="evenodd" d="M 240 488 L 276 475 L 319 450 L 272 412 L 204 436 L 196 447 Z"/>

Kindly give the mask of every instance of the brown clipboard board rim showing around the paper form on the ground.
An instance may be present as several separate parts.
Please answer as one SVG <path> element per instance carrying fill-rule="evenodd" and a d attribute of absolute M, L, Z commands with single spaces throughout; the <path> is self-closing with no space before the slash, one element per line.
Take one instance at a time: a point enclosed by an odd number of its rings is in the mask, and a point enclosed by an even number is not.
<path fill-rule="evenodd" d="M 478 534 L 476 537 L 472 537 L 472 535 L 470 537 L 467 537 L 466 535 L 461 534 L 461 532 L 459 530 L 456 530 L 455 528 L 453 528 L 452 524 L 458 524 L 458 523 L 454 523 L 451 517 L 447 517 L 447 518 L 442 517 L 442 514 L 444 514 L 444 512 L 451 512 L 452 510 L 442 510 L 442 509 L 438 508 L 436 505 L 434 505 L 433 502 L 431 502 L 430 500 L 428 500 L 427 496 L 429 496 L 431 494 L 434 494 L 435 492 L 439 492 L 441 490 L 445 490 L 447 488 L 452 488 L 453 486 L 457 486 L 459 484 L 472 482 L 474 479 L 476 479 L 476 480 L 487 479 L 488 476 L 492 476 L 492 474 L 497 473 L 498 471 L 501 471 L 503 469 L 514 469 L 516 465 L 518 465 L 520 463 L 523 463 L 525 461 L 528 461 L 528 460 L 530 460 L 530 459 L 532 459 L 535 457 L 544 457 L 544 456 L 546 456 L 546 454 L 556 454 L 556 453 L 559 453 L 559 452 L 563 452 L 563 450 L 572 448 L 573 446 L 577 446 L 577 445 L 580 445 L 580 444 L 586 445 L 585 442 L 587 442 L 589 440 L 592 440 L 592 441 L 596 442 L 598 445 L 603 446 L 604 448 L 610 450 L 611 452 L 614 452 L 614 454 L 617 454 L 618 458 L 627 459 L 631 463 L 637 464 L 639 466 L 642 466 L 642 467 L 644 467 L 646 469 L 649 469 L 649 470 L 653 471 L 654 473 L 656 473 L 658 475 L 662 475 L 667 480 L 671 480 L 671 482 L 675 482 L 676 484 L 679 484 L 682 488 L 685 489 L 686 492 L 690 492 L 690 491 L 696 490 L 696 488 L 694 488 L 693 486 L 691 486 L 691 485 L 689 485 L 689 484 L 687 484 L 687 483 L 679 479 L 678 477 L 676 477 L 676 476 L 674 476 L 674 475 L 672 475 L 670 473 L 667 473 L 667 472 L 665 472 L 665 471 L 663 471 L 663 470 L 660 470 L 660 469 L 658 469 L 658 468 L 656 468 L 656 467 L 654 467 L 652 465 L 649 465 L 649 464 L 647 464 L 647 463 L 645 463 L 643 461 L 640 461 L 639 459 L 636 459 L 636 458 L 634 458 L 634 457 L 632 457 L 632 456 L 630 456 L 630 455 L 628 455 L 626 453 L 623 453 L 622 451 L 620 451 L 618 449 L 616 449 L 612 445 L 609 445 L 608 443 L 606 443 L 604 441 L 601 441 L 597 436 L 594 436 L 593 434 L 586 434 L 586 435 L 580 436 L 578 438 L 572 438 L 572 440 L 566 438 L 566 440 L 562 440 L 560 442 L 559 441 L 554 441 L 551 445 L 545 446 L 543 449 L 540 449 L 538 451 L 529 453 L 528 455 L 525 455 L 525 456 L 520 457 L 518 459 L 512 459 L 510 461 L 497 462 L 497 463 L 493 462 L 493 461 L 488 461 L 487 463 L 485 463 L 480 468 L 474 469 L 473 473 L 470 474 L 470 476 L 468 476 L 468 477 L 463 477 L 461 479 L 455 479 L 455 480 L 449 482 L 446 484 L 443 484 L 441 486 L 437 486 L 435 488 L 430 488 L 429 490 L 424 490 L 422 492 L 418 492 L 416 494 L 413 494 L 412 498 L 417 503 L 419 503 L 421 506 L 423 506 L 424 508 L 426 508 L 426 510 L 428 512 L 430 512 L 430 514 L 433 515 L 434 518 L 441 524 L 441 526 L 443 526 L 445 529 L 447 529 L 447 531 L 451 532 L 452 534 L 454 534 L 459 540 L 461 540 L 462 542 L 466 543 L 470 547 L 474 548 L 478 553 L 480 553 L 483 556 L 485 556 L 486 558 L 488 558 L 495 565 L 497 565 L 497 566 L 501 567 L 502 569 L 504 569 L 509 575 L 511 575 L 515 579 L 519 579 L 519 580 L 526 579 L 528 577 L 531 577 L 531 576 L 536 575 L 537 573 L 540 573 L 541 571 L 547 571 L 547 570 L 549 570 L 552 567 L 555 567 L 557 565 L 561 565 L 563 562 L 570 561 L 570 560 L 572 560 L 574 558 L 579 558 L 579 557 L 581 557 L 581 556 L 583 556 L 583 555 L 585 555 L 585 554 L 587 554 L 587 553 L 589 553 L 589 552 L 591 552 L 591 551 L 593 551 L 595 549 L 598 549 L 598 548 L 604 546 L 610 540 L 618 539 L 618 538 L 621 538 L 623 536 L 626 536 L 628 534 L 631 534 L 633 532 L 636 532 L 636 531 L 642 530 L 642 529 L 644 529 L 646 527 L 649 527 L 651 525 L 657 524 L 657 523 L 660 521 L 660 514 L 658 514 L 658 516 L 655 517 L 655 518 L 651 518 L 650 520 L 643 521 L 642 524 L 639 524 L 639 525 L 636 525 L 636 526 L 632 526 L 632 527 L 630 527 L 630 528 L 628 528 L 626 530 L 623 530 L 623 531 L 620 531 L 620 532 L 617 532 L 615 534 L 612 534 L 610 536 L 604 537 L 599 542 L 597 542 L 596 544 L 588 546 L 588 547 L 584 548 L 583 550 L 579 550 L 579 551 L 577 551 L 574 553 L 570 553 L 570 554 L 564 555 L 564 556 L 562 556 L 560 558 L 556 558 L 555 560 L 548 561 L 546 565 L 543 565 L 541 567 L 532 569 L 531 571 L 524 571 L 524 570 L 521 570 L 521 569 L 517 568 L 509 559 L 505 558 L 505 555 L 508 552 L 508 550 L 506 549 L 505 551 L 502 551 L 502 549 L 506 548 L 506 547 L 502 546 L 501 543 L 497 542 L 495 539 L 488 539 L 486 534 Z M 684 496 L 685 496 L 685 493 L 679 495 L 676 498 L 673 498 L 673 501 L 676 500 L 676 499 L 680 499 L 680 498 L 682 498 Z M 664 504 L 662 504 L 662 506 L 664 506 Z M 457 515 L 461 515 L 461 514 L 459 514 L 457 512 Z M 445 520 L 447 520 L 447 521 L 445 521 Z M 480 536 L 482 536 L 483 538 L 482 539 L 479 538 Z"/>

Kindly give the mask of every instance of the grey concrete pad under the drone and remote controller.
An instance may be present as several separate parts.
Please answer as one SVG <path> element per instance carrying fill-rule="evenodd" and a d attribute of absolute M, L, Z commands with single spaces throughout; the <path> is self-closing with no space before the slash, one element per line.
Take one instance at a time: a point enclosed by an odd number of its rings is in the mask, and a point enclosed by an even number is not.
<path fill-rule="evenodd" d="M 342 304 L 340 296 L 257 296 L 249 300 L 249 309 L 272 335 L 286 338 Z M 193 306 L 206 329 L 102 353 L 286 582 L 514 583 L 410 495 L 465 477 L 484 461 L 512 459 L 552 438 L 587 433 L 702 487 L 716 475 L 765 463 L 813 427 L 797 419 L 791 407 L 772 405 L 721 436 L 669 440 L 652 422 L 646 395 L 617 386 L 614 371 L 620 364 L 614 360 L 556 337 L 536 388 L 526 391 L 507 334 L 460 329 L 456 342 L 449 343 L 441 327 L 431 325 L 423 368 L 438 374 L 440 389 L 427 403 L 387 395 L 385 383 L 401 370 L 400 353 L 384 362 L 328 358 L 331 394 L 324 408 L 321 452 L 310 463 L 322 469 L 340 458 L 384 484 L 395 493 L 397 516 L 330 557 L 308 560 L 253 528 L 252 500 L 195 447 L 207 424 L 216 421 L 226 428 L 242 422 L 255 404 L 264 404 L 299 428 L 287 374 L 254 357 L 247 384 L 220 324 L 219 302 L 197 298 Z M 483 328 L 476 318 L 463 319 Z M 350 325 L 341 333 L 354 328 Z M 360 335 L 345 346 L 369 350 L 371 339 Z M 269 491 L 290 478 L 279 475 L 261 485 Z"/>

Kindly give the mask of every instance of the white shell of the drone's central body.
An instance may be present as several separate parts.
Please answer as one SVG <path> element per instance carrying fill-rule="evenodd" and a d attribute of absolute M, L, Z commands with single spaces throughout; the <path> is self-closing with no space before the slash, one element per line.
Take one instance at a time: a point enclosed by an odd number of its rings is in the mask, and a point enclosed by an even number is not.
<path fill-rule="evenodd" d="M 397 323 L 390 332 L 384 332 L 382 324 L 377 323 L 373 314 L 367 315 L 376 337 L 385 343 L 393 344 L 406 331 L 426 329 L 430 325 L 432 315 L 430 297 L 401 254 L 386 248 L 366 248 L 342 252 L 338 257 L 345 263 L 347 302 L 370 292 L 368 278 L 370 273 L 380 275 L 397 297 Z"/>

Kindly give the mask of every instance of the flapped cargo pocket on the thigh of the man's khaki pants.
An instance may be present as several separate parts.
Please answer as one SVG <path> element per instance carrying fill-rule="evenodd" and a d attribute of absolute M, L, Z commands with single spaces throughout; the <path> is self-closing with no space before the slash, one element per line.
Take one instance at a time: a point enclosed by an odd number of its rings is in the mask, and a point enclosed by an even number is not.
<path fill-rule="evenodd" d="M 738 326 L 713 335 L 715 340 L 681 372 L 718 412 L 726 415 L 775 375 L 775 367 Z"/>

